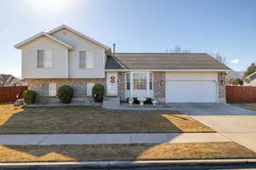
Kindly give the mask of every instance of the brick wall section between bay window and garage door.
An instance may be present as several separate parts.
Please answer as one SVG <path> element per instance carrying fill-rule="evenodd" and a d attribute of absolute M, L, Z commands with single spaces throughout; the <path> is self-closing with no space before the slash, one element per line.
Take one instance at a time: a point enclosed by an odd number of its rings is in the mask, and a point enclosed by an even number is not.
<path fill-rule="evenodd" d="M 154 72 L 154 98 L 160 102 L 166 100 L 166 73 Z"/>

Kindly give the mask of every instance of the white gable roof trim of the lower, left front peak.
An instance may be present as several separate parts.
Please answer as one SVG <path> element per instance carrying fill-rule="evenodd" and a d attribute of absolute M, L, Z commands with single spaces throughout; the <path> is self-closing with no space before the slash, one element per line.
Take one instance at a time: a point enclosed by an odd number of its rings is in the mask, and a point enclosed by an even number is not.
<path fill-rule="evenodd" d="M 57 39 L 55 37 L 52 37 L 52 36 L 50 36 L 49 34 L 47 34 L 45 32 L 40 32 L 40 33 L 36 34 L 35 36 L 32 36 L 32 37 L 26 39 L 23 42 L 17 43 L 15 45 L 15 48 L 20 48 L 22 45 L 25 45 L 26 43 L 31 42 L 32 40 L 35 40 L 38 37 L 42 37 L 42 36 L 49 37 L 49 39 L 51 39 L 51 40 L 53 40 L 55 42 L 61 43 L 61 45 L 64 45 L 65 47 L 67 47 L 69 49 L 73 49 L 73 47 L 71 45 L 67 44 L 66 42 L 61 42 L 61 40 L 59 40 L 59 39 Z"/>

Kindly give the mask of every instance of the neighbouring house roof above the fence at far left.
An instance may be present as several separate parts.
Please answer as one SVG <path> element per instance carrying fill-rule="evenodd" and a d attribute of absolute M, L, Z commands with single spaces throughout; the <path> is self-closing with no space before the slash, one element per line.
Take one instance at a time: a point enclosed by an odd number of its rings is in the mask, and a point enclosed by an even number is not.
<path fill-rule="evenodd" d="M 12 75 L 0 74 L 0 87 L 9 86 L 24 86 L 26 85 L 22 80 Z"/>

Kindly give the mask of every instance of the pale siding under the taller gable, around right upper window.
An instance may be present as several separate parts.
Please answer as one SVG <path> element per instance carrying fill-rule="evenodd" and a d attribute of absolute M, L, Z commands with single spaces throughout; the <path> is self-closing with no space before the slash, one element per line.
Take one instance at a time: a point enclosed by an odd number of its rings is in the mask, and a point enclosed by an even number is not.
<path fill-rule="evenodd" d="M 105 49 L 95 42 L 85 39 L 78 34 L 61 29 L 51 34 L 51 36 L 67 42 L 73 46 L 73 50 L 68 52 L 68 77 L 72 78 L 104 78 L 105 69 Z M 79 51 L 86 51 L 94 54 L 94 66 L 90 69 L 79 68 Z"/>

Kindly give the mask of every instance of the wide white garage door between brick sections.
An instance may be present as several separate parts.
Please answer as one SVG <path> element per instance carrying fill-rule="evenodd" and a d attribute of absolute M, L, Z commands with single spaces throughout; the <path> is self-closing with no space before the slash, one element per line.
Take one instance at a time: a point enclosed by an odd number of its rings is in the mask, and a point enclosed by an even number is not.
<path fill-rule="evenodd" d="M 167 102 L 216 102 L 217 85 L 213 81 L 170 81 Z"/>

